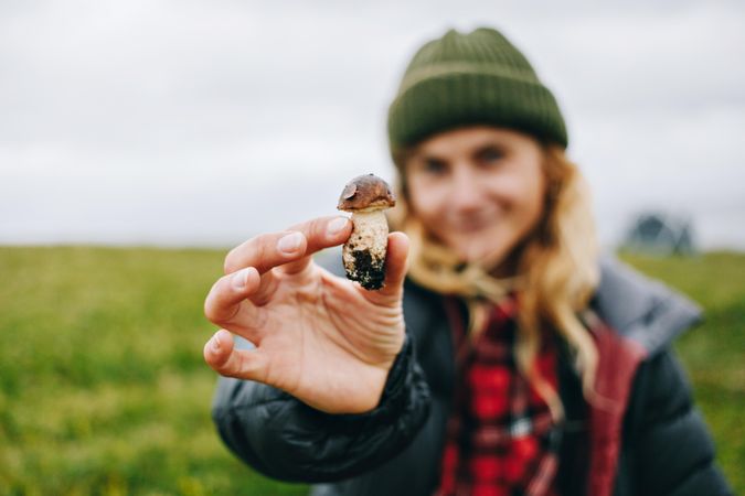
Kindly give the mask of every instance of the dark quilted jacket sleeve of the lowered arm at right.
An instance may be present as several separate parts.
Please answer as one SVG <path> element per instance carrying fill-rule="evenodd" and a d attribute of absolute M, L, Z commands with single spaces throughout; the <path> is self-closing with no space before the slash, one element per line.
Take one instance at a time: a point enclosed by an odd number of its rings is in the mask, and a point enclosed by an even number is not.
<path fill-rule="evenodd" d="M 636 470 L 638 494 L 730 495 L 714 464 L 714 445 L 691 388 L 669 351 L 641 366 L 637 376 Z"/>

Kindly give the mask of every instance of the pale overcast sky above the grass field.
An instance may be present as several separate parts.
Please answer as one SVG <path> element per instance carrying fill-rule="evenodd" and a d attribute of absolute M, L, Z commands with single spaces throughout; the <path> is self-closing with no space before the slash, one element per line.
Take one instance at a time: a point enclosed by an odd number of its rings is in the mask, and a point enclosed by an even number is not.
<path fill-rule="evenodd" d="M 602 3 L 602 4 L 600 4 Z M 414 51 L 492 25 L 556 95 L 606 245 L 745 248 L 745 2 L 0 2 L 0 244 L 231 246 L 392 179 Z"/>

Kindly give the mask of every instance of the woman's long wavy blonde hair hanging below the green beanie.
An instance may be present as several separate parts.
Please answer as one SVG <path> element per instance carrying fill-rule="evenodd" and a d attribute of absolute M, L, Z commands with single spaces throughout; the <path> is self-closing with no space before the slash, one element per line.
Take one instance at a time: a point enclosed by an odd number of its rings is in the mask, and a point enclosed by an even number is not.
<path fill-rule="evenodd" d="M 392 226 L 411 239 L 409 277 L 435 292 L 465 300 L 470 336 L 483 331 L 493 303 L 515 292 L 520 305 L 514 349 L 518 369 L 547 402 L 552 417 L 562 419 L 564 410 L 558 392 L 536 367 L 544 330 L 565 338 L 581 370 L 585 398 L 597 399 L 593 392 L 597 348 L 581 320 L 599 281 L 595 225 L 589 190 L 564 149 L 543 147 L 546 179 L 543 215 L 536 228 L 509 256 L 517 262 L 517 274 L 510 279 L 491 276 L 494 263 L 500 261 L 464 266 L 409 212 L 405 165 L 411 152 L 404 150 L 393 155 L 400 171 L 400 194 L 398 206 L 390 218 Z"/>

